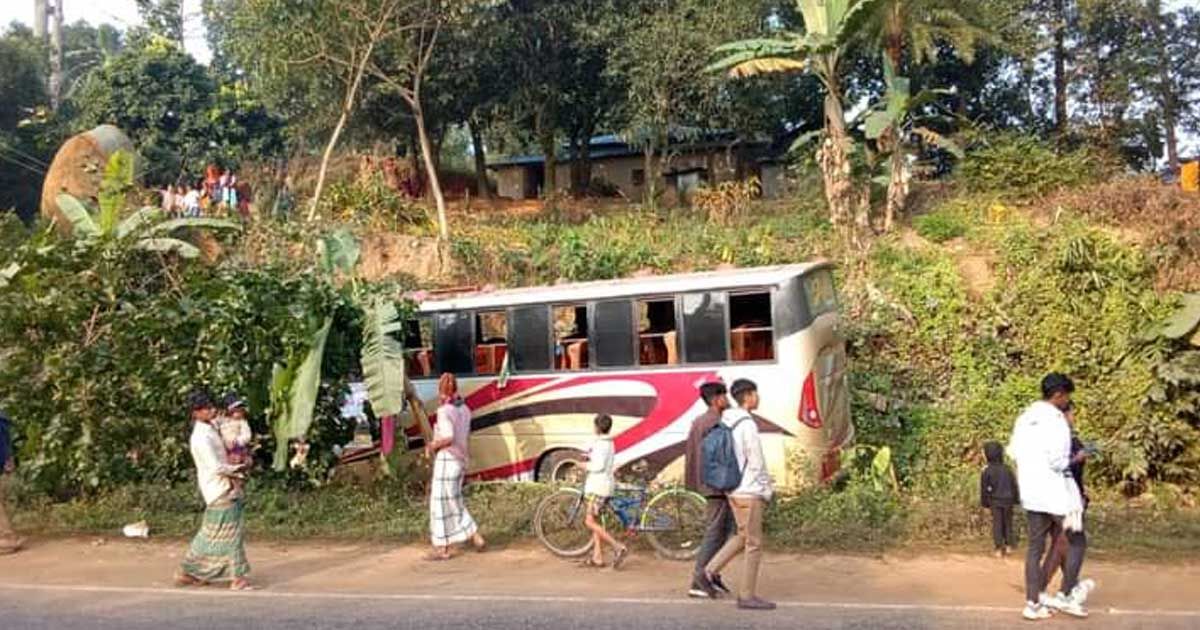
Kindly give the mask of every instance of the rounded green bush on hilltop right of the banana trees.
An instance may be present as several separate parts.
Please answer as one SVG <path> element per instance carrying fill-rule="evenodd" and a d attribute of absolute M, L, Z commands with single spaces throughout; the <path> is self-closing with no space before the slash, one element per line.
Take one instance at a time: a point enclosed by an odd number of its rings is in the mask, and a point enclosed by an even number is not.
<path fill-rule="evenodd" d="M 1114 162 L 1092 149 L 1058 152 L 1033 136 L 1003 133 L 970 150 L 959 164 L 958 178 L 972 192 L 1021 198 L 1094 184 L 1115 172 Z"/>

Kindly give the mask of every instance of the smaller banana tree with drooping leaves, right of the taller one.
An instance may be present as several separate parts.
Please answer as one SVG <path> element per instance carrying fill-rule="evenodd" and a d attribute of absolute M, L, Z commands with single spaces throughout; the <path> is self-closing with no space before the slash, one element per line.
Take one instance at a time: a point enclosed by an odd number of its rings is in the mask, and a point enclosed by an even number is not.
<path fill-rule="evenodd" d="M 887 204 L 883 214 L 883 229 L 890 230 L 895 217 L 904 211 L 908 199 L 910 180 L 908 155 L 913 143 L 908 138 L 917 137 L 920 142 L 962 157 L 962 150 L 950 138 L 929 127 L 926 122 L 944 116 L 924 115 L 923 109 L 938 97 L 949 94 L 947 90 L 922 90 L 912 94 L 912 83 L 907 77 L 896 74 L 890 59 L 883 58 L 883 78 L 887 92 L 883 102 L 868 114 L 863 131 L 866 139 L 874 140 L 880 152 L 888 155 Z"/>

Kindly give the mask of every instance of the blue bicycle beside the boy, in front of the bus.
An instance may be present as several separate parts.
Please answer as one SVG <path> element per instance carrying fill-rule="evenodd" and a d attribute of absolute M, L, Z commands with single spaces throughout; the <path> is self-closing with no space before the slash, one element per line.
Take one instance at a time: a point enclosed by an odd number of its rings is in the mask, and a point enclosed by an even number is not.
<path fill-rule="evenodd" d="M 592 551 L 592 532 L 583 524 L 587 502 L 575 487 L 556 490 L 534 512 L 538 540 L 560 558 L 578 558 Z M 670 487 L 653 496 L 644 485 L 619 484 L 600 512 L 610 532 L 619 524 L 625 538 L 644 533 L 654 551 L 671 560 L 690 560 L 704 539 L 704 497 Z"/>

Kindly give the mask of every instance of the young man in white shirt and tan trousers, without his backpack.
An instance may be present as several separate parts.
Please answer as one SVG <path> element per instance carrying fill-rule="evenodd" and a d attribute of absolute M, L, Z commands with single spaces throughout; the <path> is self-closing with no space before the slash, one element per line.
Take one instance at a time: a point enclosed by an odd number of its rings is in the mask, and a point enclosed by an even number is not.
<path fill-rule="evenodd" d="M 758 596 L 758 565 L 762 562 L 762 512 L 774 494 L 762 439 L 754 410 L 758 408 L 758 388 L 746 379 L 734 380 L 730 395 L 737 407 L 726 409 L 721 422 L 733 431 L 733 446 L 742 470 L 742 482 L 728 493 L 738 532 L 716 552 L 704 568 L 702 582 L 710 583 L 738 553 L 745 552 L 745 570 L 738 588 L 738 608 L 769 611 L 775 605 Z"/>

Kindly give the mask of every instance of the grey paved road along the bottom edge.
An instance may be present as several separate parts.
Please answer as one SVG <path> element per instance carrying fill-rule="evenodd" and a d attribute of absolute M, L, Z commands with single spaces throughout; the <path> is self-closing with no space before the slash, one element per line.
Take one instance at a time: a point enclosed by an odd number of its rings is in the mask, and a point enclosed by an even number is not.
<path fill-rule="evenodd" d="M 452 589 L 451 584 L 446 586 Z M 1042 628 L 1195 629 L 1200 612 L 1093 611 L 1087 622 Z M 727 602 L 635 598 L 404 595 L 88 586 L 0 586 L 4 630 L 216 629 L 992 629 L 1028 628 L 1015 610 L 970 605 L 788 601 L 774 612 Z"/>

